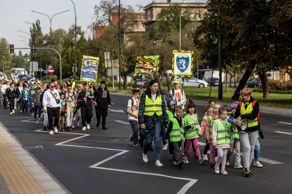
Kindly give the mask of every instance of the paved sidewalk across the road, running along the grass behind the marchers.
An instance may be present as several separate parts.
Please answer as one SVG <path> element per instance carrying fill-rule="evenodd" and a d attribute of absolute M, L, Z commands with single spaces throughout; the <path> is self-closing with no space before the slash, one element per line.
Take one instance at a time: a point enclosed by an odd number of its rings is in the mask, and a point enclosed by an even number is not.
<path fill-rule="evenodd" d="M 133 95 L 131 95 L 131 94 L 123 94 L 123 93 L 109 92 L 109 94 L 113 95 L 113 96 L 120 96 L 120 97 L 127 97 L 127 98 L 133 97 Z M 208 104 L 208 101 L 205 101 L 205 100 L 193 99 L 193 101 L 198 106 L 206 106 Z M 218 101 L 218 102 L 220 102 L 220 101 Z M 232 104 L 229 102 L 221 102 L 221 103 L 228 104 L 229 106 Z M 292 116 L 292 108 L 278 108 L 278 107 L 271 107 L 271 106 L 260 106 L 260 113 Z"/>

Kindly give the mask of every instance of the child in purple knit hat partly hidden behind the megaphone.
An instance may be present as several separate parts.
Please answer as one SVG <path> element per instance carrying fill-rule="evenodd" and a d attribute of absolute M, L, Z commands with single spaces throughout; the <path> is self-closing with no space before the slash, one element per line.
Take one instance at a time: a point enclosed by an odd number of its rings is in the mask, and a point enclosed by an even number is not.
<path fill-rule="evenodd" d="M 234 118 L 234 115 L 235 115 L 235 111 L 236 111 L 236 108 L 237 108 L 237 105 L 239 104 L 239 102 L 235 102 L 233 104 L 231 104 L 229 110 L 231 112 L 231 114 L 229 114 L 229 116 L 231 118 Z M 234 163 L 234 168 L 243 168 L 243 166 L 241 166 L 240 164 L 240 138 L 239 138 L 239 135 L 238 135 L 238 130 L 237 130 L 237 126 L 236 125 L 232 125 L 232 129 L 233 129 L 233 132 L 232 132 L 232 137 L 233 137 L 233 140 L 234 140 L 234 147 L 235 147 L 235 163 Z M 230 147 L 228 150 L 227 150 L 227 156 L 226 156 L 226 165 L 228 166 L 229 165 L 229 159 L 230 159 L 230 156 L 233 152 L 233 147 Z"/>

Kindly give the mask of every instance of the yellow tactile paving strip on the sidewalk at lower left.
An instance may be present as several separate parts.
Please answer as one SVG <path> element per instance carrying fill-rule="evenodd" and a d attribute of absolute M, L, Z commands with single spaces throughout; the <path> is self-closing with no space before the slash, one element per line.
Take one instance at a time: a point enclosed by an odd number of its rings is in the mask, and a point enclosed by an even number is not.
<path fill-rule="evenodd" d="M 46 194 L 1 137 L 0 173 L 11 194 Z"/>

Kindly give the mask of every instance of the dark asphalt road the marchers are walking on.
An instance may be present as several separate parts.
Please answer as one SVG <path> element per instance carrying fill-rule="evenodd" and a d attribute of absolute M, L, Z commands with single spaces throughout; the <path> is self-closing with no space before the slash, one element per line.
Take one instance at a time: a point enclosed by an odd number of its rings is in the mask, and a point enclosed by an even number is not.
<path fill-rule="evenodd" d="M 144 163 L 140 147 L 134 147 L 128 141 L 104 141 L 129 139 L 132 134 L 130 124 L 124 124 L 128 123 L 127 101 L 128 98 L 112 96 L 114 104 L 111 108 L 116 111 L 108 112 L 107 130 L 102 130 L 101 126 L 95 127 L 95 111 L 90 130 L 81 131 L 81 126 L 76 127 L 75 124 L 76 128 L 72 131 L 51 136 L 48 135 L 48 130 L 35 131 L 42 129 L 43 123 L 36 124 L 34 120 L 29 120 L 33 117 L 20 113 L 19 109 L 15 110 L 15 114 L 9 115 L 9 110 L 1 107 L 0 121 L 23 147 L 42 145 L 44 148 L 29 151 L 73 194 L 291 193 L 292 125 L 278 123 L 292 123 L 291 117 L 260 114 L 260 124 L 265 135 L 263 140 L 260 139 L 260 157 L 263 158 L 260 163 L 263 167 L 253 166 L 252 161 L 253 175 L 244 177 L 243 169 L 233 168 L 235 154 L 232 154 L 230 165 L 226 167 L 228 175 L 223 176 L 214 173 L 214 169 L 210 168 L 210 160 L 199 165 L 198 159 L 188 157 L 190 163 L 183 164 L 182 168 L 178 169 L 171 165 L 168 150 L 162 150 L 163 167 L 157 167 L 154 152 L 148 152 L 149 161 Z M 204 107 L 198 106 L 197 109 L 199 118 L 202 118 Z M 88 136 L 84 136 L 86 134 Z M 199 138 L 199 142 L 205 143 L 205 139 Z M 58 143 L 62 144 L 56 145 Z M 154 143 L 152 145 L 154 148 Z M 199 149 L 202 152 L 204 145 L 199 145 Z M 240 151 L 243 151 L 242 146 Z M 180 151 L 181 159 L 182 153 L 183 150 Z M 189 153 L 191 155 L 192 148 Z M 275 162 L 278 163 L 271 164 Z"/>

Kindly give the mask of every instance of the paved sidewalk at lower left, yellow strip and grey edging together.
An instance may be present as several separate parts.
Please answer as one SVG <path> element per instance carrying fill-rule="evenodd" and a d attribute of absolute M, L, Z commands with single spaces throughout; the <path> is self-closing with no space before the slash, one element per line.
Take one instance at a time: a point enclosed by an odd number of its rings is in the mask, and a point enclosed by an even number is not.
<path fill-rule="evenodd" d="M 0 193 L 68 194 L 0 122 Z"/>

